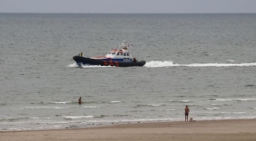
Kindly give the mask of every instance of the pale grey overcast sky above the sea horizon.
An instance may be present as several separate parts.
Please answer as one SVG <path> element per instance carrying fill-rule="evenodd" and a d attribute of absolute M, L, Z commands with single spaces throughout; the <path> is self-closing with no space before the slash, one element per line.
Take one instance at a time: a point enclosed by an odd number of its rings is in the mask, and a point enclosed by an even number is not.
<path fill-rule="evenodd" d="M 0 0 L 0 13 L 256 13 L 256 0 Z"/>

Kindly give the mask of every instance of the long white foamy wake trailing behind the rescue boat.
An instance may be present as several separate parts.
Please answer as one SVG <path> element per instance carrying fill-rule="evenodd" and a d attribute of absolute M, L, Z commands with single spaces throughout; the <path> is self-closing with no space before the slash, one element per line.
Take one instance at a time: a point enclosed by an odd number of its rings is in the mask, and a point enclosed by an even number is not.
<path fill-rule="evenodd" d="M 232 62 L 232 61 L 229 61 L 229 62 Z M 147 61 L 144 66 L 149 67 L 149 68 L 161 68 L 161 67 L 251 67 L 251 66 L 256 66 L 256 62 L 178 64 L 178 63 L 173 63 L 173 61 Z"/>

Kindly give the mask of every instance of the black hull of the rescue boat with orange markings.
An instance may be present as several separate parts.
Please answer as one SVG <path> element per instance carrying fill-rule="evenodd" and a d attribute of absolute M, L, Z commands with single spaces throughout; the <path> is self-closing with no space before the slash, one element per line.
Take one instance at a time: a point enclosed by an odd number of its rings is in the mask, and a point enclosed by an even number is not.
<path fill-rule="evenodd" d="M 136 61 L 136 62 L 124 62 L 124 61 L 103 61 L 103 60 L 94 60 L 91 58 L 86 58 L 82 56 L 74 56 L 74 61 L 77 65 L 81 66 L 82 64 L 90 65 L 101 65 L 101 66 L 115 66 L 115 67 L 133 67 L 133 66 L 143 66 L 146 61 Z"/>

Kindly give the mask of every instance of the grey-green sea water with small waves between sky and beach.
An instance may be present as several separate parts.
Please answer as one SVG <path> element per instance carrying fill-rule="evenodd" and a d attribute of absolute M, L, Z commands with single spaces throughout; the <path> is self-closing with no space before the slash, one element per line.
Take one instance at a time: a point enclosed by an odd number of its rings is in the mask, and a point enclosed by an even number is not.
<path fill-rule="evenodd" d="M 0 131 L 182 121 L 186 105 L 256 118 L 256 14 L 0 14 L 0 32 Z M 145 66 L 72 59 L 123 39 Z"/>

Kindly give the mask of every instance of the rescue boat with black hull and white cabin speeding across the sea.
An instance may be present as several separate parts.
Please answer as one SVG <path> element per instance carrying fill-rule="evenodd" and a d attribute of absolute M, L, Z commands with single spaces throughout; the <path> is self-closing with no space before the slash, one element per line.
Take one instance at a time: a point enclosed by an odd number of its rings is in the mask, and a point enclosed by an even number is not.
<path fill-rule="evenodd" d="M 101 65 L 115 67 L 133 67 L 143 66 L 146 61 L 137 61 L 129 52 L 129 47 L 132 44 L 123 41 L 118 49 L 112 49 L 105 56 L 84 57 L 83 52 L 73 57 L 78 66 L 83 65 Z"/>

